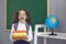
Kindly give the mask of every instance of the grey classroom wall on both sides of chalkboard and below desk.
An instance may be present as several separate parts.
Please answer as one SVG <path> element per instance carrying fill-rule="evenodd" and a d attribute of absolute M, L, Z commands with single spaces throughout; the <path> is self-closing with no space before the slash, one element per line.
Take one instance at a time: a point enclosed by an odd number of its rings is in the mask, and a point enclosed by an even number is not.
<path fill-rule="evenodd" d="M 64 15 L 66 15 L 66 0 L 52 0 L 51 1 L 51 12 L 56 13 L 59 19 Z M 55 4 L 58 3 L 58 4 Z M 55 6 L 54 6 L 55 4 Z M 58 7 L 58 8 L 57 8 Z M 62 9 L 62 10 L 61 10 Z M 62 18 L 61 20 L 65 21 L 65 18 Z M 62 21 L 62 24 L 65 22 Z M 62 25 L 61 25 L 62 26 Z M 66 32 L 66 28 L 62 26 L 59 29 L 64 30 L 58 30 L 59 32 Z M 9 38 L 10 32 L 4 31 L 4 0 L 0 0 L 0 44 L 12 44 L 12 42 Z M 43 43 L 43 37 L 38 37 L 38 44 Z M 54 40 L 54 38 L 47 38 L 47 44 L 66 44 L 66 41 L 63 40 Z"/>

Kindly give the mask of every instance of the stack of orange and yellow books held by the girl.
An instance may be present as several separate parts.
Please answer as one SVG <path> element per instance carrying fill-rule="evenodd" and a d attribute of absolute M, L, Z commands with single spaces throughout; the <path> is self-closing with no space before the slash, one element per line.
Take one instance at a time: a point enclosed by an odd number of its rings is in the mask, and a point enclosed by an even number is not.
<path fill-rule="evenodd" d="M 26 31 L 13 31 L 12 38 L 28 38 Z"/>

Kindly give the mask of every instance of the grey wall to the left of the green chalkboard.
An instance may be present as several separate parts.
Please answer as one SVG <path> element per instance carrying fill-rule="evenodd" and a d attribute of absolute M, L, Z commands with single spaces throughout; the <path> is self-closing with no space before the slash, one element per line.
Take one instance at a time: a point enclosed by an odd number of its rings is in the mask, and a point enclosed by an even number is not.
<path fill-rule="evenodd" d="M 4 0 L 0 0 L 0 44 L 12 44 L 9 34 L 4 31 Z"/>

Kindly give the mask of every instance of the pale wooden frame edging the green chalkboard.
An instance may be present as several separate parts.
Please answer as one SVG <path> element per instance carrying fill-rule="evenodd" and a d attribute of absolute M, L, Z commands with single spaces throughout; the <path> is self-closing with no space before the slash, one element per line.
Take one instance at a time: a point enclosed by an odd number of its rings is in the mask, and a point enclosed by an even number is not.
<path fill-rule="evenodd" d="M 50 2 L 51 0 L 47 0 L 47 16 L 50 16 Z M 10 31 L 7 29 L 7 0 L 4 0 L 4 30 Z"/>

